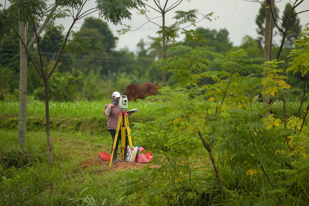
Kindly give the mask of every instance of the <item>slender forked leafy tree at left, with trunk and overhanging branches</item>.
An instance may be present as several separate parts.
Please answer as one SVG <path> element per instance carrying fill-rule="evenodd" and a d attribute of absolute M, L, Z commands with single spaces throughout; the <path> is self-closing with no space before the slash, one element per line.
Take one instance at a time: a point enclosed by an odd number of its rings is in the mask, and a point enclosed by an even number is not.
<path fill-rule="evenodd" d="M 19 18 L 19 31 L 16 30 L 16 28 L 7 20 L 8 17 L 6 15 L 3 15 L 1 13 L 0 17 L 4 21 L 6 21 L 12 29 L 18 34 L 19 39 L 20 39 L 20 49 L 21 52 L 22 48 L 25 49 L 25 53 L 28 54 L 29 58 L 32 61 L 33 66 L 35 67 L 36 71 L 44 81 L 44 93 L 45 93 L 45 109 L 46 109 L 46 138 L 47 138 L 47 147 L 48 147 L 48 163 L 52 164 L 52 143 L 51 143 L 51 135 L 50 135 L 50 126 L 49 126 L 49 97 L 48 97 L 48 80 L 49 77 L 52 75 L 53 71 L 57 67 L 57 64 L 60 60 L 61 54 L 63 51 L 69 51 L 73 54 L 79 54 L 80 51 L 85 51 L 85 45 L 86 42 L 82 38 L 76 38 L 76 32 L 72 31 L 72 28 L 74 24 L 80 20 L 81 18 L 91 14 L 92 12 L 99 11 L 99 16 L 104 17 L 105 19 L 111 21 L 114 24 L 121 23 L 121 20 L 126 18 L 130 19 L 131 13 L 129 12 L 129 9 L 132 8 L 137 8 L 138 6 L 143 6 L 143 3 L 140 0 L 128 0 L 128 1 L 121 1 L 121 2 L 115 2 L 110 1 L 110 0 L 99 0 L 96 1 L 96 5 L 92 7 L 91 9 L 88 10 L 83 10 L 85 9 L 84 6 L 87 3 L 87 0 L 81 0 L 81 1 L 60 1 L 60 2 L 55 2 L 53 5 L 55 8 L 58 5 L 60 8 L 63 8 L 64 10 L 59 11 L 55 15 L 53 13 L 49 13 L 47 16 L 47 19 L 45 22 L 51 22 L 54 21 L 56 18 L 62 18 L 65 16 L 71 16 L 73 19 L 73 22 L 68 29 L 68 32 L 65 36 L 65 38 L 60 42 L 60 50 L 57 52 L 54 52 L 54 54 L 58 55 L 57 59 L 55 61 L 51 61 L 50 67 L 44 69 L 43 64 L 42 64 L 42 55 L 40 51 L 40 43 L 38 41 L 38 35 L 41 32 L 40 30 L 36 29 L 36 23 L 39 22 L 41 19 L 44 19 L 45 16 L 45 11 L 48 10 L 49 2 L 48 1 L 38 1 L 38 0 L 32 0 L 29 2 L 29 4 L 24 4 L 24 1 L 19 1 L 15 0 L 11 2 L 10 9 L 13 10 L 14 12 L 18 13 L 18 18 Z M 120 6 L 119 6 L 120 5 Z M 0 5 L 2 6 L 2 5 Z M 52 10 L 54 11 L 54 10 Z M 67 12 L 67 13 L 66 13 Z M 25 30 L 24 30 L 24 24 L 23 22 L 26 23 L 31 23 L 33 25 L 34 31 L 36 33 L 36 40 L 38 44 L 38 54 L 40 56 L 40 64 L 37 65 L 33 58 L 32 55 L 29 51 L 29 48 L 26 45 L 25 41 Z M 63 29 L 63 27 L 61 27 Z M 47 60 L 46 60 L 47 61 Z M 27 69 L 25 70 L 27 71 Z M 22 77 L 26 77 L 27 73 L 23 73 L 22 71 L 20 72 Z M 24 80 L 23 80 L 24 81 Z M 27 81 L 26 83 L 27 84 Z M 27 87 L 21 87 L 20 89 L 25 89 L 27 91 Z M 21 92 L 22 93 L 22 92 Z M 26 92 L 27 93 L 27 92 Z M 19 98 L 21 99 L 21 98 Z M 25 142 L 25 141 L 24 141 Z"/>

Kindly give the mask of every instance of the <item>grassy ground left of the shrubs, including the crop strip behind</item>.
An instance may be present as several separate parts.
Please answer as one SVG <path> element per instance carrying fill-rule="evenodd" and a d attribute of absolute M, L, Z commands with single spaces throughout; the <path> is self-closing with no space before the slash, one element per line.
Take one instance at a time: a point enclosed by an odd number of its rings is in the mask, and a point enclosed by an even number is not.
<path fill-rule="evenodd" d="M 2 102 L 0 205 L 133 204 L 121 187 L 128 168 L 119 168 L 122 163 L 109 168 L 109 162 L 96 160 L 98 152 L 109 153 L 112 145 L 103 115 L 107 103 L 50 103 L 53 166 L 49 166 L 44 102 L 28 103 L 26 148 L 16 144 L 18 102 Z M 130 109 L 147 114 L 147 105 L 137 101 Z M 133 116 L 148 118 L 138 112 Z"/>

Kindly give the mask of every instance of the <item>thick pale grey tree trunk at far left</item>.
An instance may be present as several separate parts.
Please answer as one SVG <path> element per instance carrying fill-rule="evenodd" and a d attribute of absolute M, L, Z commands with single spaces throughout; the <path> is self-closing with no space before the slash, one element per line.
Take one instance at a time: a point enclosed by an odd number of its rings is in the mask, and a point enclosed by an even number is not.
<path fill-rule="evenodd" d="M 23 42 L 27 44 L 27 33 L 25 23 L 19 21 L 19 35 Z M 21 40 L 19 39 L 20 69 L 19 69 L 19 116 L 18 116 L 18 138 L 19 146 L 26 145 L 26 122 L 27 122 L 27 53 Z"/>

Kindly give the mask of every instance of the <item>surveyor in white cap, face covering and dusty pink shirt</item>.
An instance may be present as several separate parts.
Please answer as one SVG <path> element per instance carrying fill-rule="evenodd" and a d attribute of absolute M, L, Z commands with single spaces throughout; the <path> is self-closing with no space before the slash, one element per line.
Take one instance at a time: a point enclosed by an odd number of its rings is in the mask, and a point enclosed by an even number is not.
<path fill-rule="evenodd" d="M 104 115 L 108 117 L 107 121 L 107 130 L 111 133 L 112 135 L 112 150 L 113 151 L 113 143 L 115 141 L 115 135 L 116 135 L 116 130 L 117 130 L 117 124 L 118 124 L 118 119 L 120 115 L 120 108 L 119 108 L 119 99 L 120 99 L 120 93 L 119 92 L 113 92 L 112 94 L 112 102 L 110 104 L 107 104 L 105 106 L 105 111 Z M 128 116 L 130 116 L 132 113 L 128 113 Z M 119 162 L 117 160 L 117 150 L 118 150 L 118 144 L 119 140 L 121 141 L 121 128 L 119 128 L 118 131 L 118 137 L 116 140 L 116 147 L 113 155 L 113 163 Z M 128 134 L 127 129 L 125 129 L 125 134 Z M 125 135 L 125 148 L 128 147 L 128 135 Z M 124 160 L 125 162 L 128 162 L 129 160 L 127 159 L 127 149 L 125 149 L 125 157 Z"/>

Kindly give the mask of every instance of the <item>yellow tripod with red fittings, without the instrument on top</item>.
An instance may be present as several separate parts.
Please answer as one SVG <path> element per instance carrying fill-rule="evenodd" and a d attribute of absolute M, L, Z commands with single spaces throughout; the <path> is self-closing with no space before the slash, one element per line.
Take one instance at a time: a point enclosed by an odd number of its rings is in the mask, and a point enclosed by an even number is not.
<path fill-rule="evenodd" d="M 114 156 L 114 152 L 116 150 L 116 143 L 117 143 L 117 138 L 118 138 L 118 132 L 121 128 L 121 162 L 123 162 L 124 160 L 124 154 L 125 154 L 125 149 L 127 149 L 125 147 L 125 126 L 127 127 L 127 131 L 128 131 L 128 142 L 130 145 L 130 150 L 132 152 L 132 157 L 133 157 L 133 163 L 134 163 L 134 155 L 133 155 L 133 144 L 132 144 L 132 139 L 131 139 L 131 132 L 130 132 L 130 127 L 129 127 L 129 121 L 128 121 L 128 114 L 127 111 L 121 111 L 120 115 L 119 115 L 119 119 L 118 119 L 118 124 L 117 124 L 117 129 L 116 129 L 116 134 L 115 134 L 115 138 L 114 138 L 114 144 L 113 144 L 113 148 L 112 148 L 112 157 L 111 157 L 111 162 L 109 163 L 109 167 L 112 166 L 112 161 L 113 161 L 113 156 Z M 117 155 L 117 154 L 116 154 Z M 125 154 L 127 155 L 127 154 Z"/>

